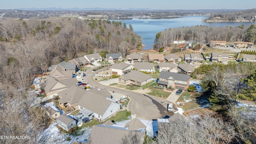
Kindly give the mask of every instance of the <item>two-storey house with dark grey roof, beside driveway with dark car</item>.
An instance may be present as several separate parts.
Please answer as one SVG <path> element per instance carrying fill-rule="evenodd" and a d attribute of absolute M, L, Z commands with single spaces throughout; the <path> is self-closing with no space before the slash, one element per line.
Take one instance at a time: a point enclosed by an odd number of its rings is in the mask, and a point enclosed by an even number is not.
<path fill-rule="evenodd" d="M 174 72 L 160 72 L 158 86 L 166 88 L 173 87 L 175 89 L 185 90 L 189 86 L 190 76 L 187 74 L 180 74 Z"/>

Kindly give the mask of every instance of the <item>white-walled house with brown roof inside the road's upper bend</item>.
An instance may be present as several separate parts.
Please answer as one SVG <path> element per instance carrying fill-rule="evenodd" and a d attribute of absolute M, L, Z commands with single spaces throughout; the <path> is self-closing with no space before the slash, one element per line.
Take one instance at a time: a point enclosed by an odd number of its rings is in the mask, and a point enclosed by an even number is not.
<path fill-rule="evenodd" d="M 129 72 L 132 69 L 132 66 L 130 64 L 126 64 L 124 62 L 121 62 L 119 64 L 113 64 L 111 66 L 111 72 L 112 74 L 117 74 L 117 75 L 123 75 Z"/>

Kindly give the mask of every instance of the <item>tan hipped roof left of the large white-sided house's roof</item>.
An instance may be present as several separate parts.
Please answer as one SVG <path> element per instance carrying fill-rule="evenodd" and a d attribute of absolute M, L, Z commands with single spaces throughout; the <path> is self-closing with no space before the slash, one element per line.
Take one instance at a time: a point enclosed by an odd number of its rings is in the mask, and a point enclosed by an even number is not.
<path fill-rule="evenodd" d="M 86 90 L 80 88 L 79 86 L 71 86 L 65 90 L 58 92 L 57 94 L 61 97 L 59 99 L 60 103 L 68 102 L 70 104 L 74 104 L 79 102 L 79 100 L 86 94 Z"/>

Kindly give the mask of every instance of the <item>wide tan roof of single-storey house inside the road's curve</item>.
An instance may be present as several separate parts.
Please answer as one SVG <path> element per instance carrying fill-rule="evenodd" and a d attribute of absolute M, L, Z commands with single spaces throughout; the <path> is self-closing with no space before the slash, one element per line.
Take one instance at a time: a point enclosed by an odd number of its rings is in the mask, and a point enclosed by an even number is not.
<path fill-rule="evenodd" d="M 124 74 L 119 78 L 122 80 L 133 80 L 136 82 L 144 82 L 145 80 L 152 78 L 152 76 L 148 74 L 144 74 L 143 72 L 140 72 L 138 70 L 132 70 L 128 74 Z"/>

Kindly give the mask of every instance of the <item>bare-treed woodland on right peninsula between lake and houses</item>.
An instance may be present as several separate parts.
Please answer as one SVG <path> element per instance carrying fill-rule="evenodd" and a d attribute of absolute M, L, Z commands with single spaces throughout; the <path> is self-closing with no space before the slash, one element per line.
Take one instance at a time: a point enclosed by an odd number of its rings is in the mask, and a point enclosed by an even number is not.
<path fill-rule="evenodd" d="M 250 27 L 226 26 L 190 26 L 180 28 L 169 28 L 156 34 L 154 49 L 168 46 L 175 40 L 195 40 L 200 44 L 210 44 L 210 40 L 224 40 L 226 42 L 252 42 L 256 43 L 256 27 L 252 24 Z"/>

